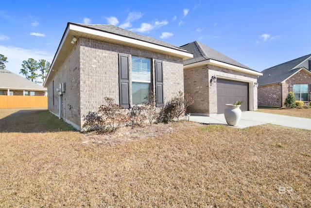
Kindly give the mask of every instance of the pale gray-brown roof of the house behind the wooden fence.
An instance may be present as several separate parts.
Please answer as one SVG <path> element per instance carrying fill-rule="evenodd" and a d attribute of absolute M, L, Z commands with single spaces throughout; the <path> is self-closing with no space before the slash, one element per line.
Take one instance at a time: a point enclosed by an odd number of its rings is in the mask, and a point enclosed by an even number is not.
<path fill-rule="evenodd" d="M 14 74 L 6 69 L 0 69 L 0 89 L 47 91 L 46 88 Z"/>

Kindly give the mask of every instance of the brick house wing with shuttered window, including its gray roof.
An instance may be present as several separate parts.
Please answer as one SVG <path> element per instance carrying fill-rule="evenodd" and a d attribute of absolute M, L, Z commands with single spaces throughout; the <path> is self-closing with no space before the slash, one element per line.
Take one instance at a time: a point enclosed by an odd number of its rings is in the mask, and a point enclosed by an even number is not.
<path fill-rule="evenodd" d="M 49 111 L 81 130 L 83 116 L 104 97 L 130 109 L 151 88 L 159 106 L 184 91 L 183 60 L 191 57 L 113 25 L 68 23 L 44 83 Z"/>

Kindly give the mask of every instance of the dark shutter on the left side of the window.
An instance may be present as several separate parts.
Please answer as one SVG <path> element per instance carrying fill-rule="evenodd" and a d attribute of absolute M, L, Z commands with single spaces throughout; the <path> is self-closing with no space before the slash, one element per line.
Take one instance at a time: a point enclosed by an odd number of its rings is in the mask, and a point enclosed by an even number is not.
<path fill-rule="evenodd" d="M 129 55 L 119 54 L 119 98 L 122 108 L 130 108 Z"/>

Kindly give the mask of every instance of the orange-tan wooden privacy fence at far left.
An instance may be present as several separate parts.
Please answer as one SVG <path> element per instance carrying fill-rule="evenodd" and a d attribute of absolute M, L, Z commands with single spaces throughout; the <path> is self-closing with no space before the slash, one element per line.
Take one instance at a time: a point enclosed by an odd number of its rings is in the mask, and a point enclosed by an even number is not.
<path fill-rule="evenodd" d="M 48 107 L 47 96 L 0 95 L 0 108 L 44 108 Z"/>

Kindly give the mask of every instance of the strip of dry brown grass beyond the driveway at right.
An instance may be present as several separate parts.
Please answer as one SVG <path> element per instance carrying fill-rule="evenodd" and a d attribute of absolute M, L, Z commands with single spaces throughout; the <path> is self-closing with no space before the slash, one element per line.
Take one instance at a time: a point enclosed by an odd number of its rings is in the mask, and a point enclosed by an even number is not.
<path fill-rule="evenodd" d="M 288 108 L 259 108 L 258 112 L 274 113 L 280 115 L 290 115 L 302 118 L 311 118 L 311 108 L 308 109 L 288 109 Z"/>

